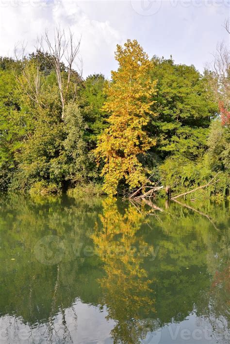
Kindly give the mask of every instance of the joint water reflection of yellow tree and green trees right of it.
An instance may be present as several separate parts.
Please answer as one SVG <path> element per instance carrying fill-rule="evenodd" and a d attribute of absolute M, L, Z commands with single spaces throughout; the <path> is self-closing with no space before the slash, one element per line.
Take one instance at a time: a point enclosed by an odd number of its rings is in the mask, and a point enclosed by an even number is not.
<path fill-rule="evenodd" d="M 108 318 L 117 323 L 111 332 L 114 341 L 138 343 L 149 330 L 181 322 L 191 313 L 207 317 L 215 331 L 219 328 L 215 314 L 223 317 L 224 324 L 228 318 L 227 270 L 218 275 L 221 292 L 214 295 L 215 271 L 220 262 L 227 264 L 228 235 L 213 225 L 222 221 L 221 212 L 211 207 L 213 220 L 209 211 L 206 215 L 190 206 L 149 206 L 149 202 L 148 206 L 130 204 L 121 211 L 114 200 L 105 200 L 92 235 L 106 272 L 99 281 L 101 302 L 108 308 Z M 140 254 L 143 247 L 145 254 Z M 159 248 L 154 261 L 149 257 L 153 248 Z M 215 291 L 210 290 L 212 281 Z M 226 336 L 227 327 L 222 330 Z"/>

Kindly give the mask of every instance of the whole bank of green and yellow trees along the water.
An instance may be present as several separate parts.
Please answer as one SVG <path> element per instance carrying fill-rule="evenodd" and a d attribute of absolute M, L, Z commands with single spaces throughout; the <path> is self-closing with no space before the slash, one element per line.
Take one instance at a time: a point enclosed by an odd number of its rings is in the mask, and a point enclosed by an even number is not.
<path fill-rule="evenodd" d="M 128 40 L 117 46 L 111 81 L 83 79 L 72 35 L 66 46 L 61 31 L 55 46 L 45 39 L 47 50 L 0 58 L 2 191 L 80 195 L 103 186 L 128 195 L 151 176 L 180 192 L 221 171 L 200 192 L 228 196 L 229 60 L 224 73 L 201 75 L 172 58 L 149 59 Z"/>

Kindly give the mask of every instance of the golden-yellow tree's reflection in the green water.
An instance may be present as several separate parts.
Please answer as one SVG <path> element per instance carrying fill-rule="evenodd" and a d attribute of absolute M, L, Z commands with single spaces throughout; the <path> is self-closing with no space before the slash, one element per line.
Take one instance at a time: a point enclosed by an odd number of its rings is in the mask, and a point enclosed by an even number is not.
<path fill-rule="evenodd" d="M 143 211 L 131 204 L 122 214 L 114 199 L 106 199 L 100 216 L 102 226 L 97 223 L 92 235 L 96 253 L 104 262 L 106 276 L 99 282 L 107 318 L 116 322 L 111 332 L 114 343 L 139 343 L 150 329 L 145 319 L 154 312 L 152 281 L 142 263 L 152 248 L 137 235 L 145 221 Z"/>

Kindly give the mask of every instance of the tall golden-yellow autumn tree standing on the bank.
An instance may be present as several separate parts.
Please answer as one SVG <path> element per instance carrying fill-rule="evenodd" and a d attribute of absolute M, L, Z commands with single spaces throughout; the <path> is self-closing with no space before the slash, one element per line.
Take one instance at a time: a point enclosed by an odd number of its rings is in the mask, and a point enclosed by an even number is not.
<path fill-rule="evenodd" d="M 124 47 L 117 45 L 115 59 L 119 67 L 112 71 L 103 106 L 110 114 L 110 125 L 100 136 L 96 149 L 97 156 L 104 160 L 104 191 L 109 195 L 117 193 L 121 180 L 130 188 L 146 181 L 147 171 L 138 156 L 155 144 L 145 131 L 154 115 L 151 105 L 156 81 L 150 77 L 152 62 L 136 40 L 128 40 Z"/>

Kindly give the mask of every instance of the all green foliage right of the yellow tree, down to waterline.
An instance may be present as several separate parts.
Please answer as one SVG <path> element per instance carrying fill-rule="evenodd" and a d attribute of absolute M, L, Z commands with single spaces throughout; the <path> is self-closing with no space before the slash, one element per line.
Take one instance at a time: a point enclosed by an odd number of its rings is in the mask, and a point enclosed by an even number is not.
<path fill-rule="evenodd" d="M 172 59 L 154 57 L 153 62 L 153 78 L 158 79 L 153 108 L 158 116 L 149 130 L 155 132 L 153 151 L 161 158 L 152 168 L 155 180 L 161 177 L 163 185 L 179 194 L 208 183 L 223 171 L 217 185 L 188 198 L 226 197 L 229 183 L 223 163 L 229 160 L 229 129 L 215 119 L 218 104 L 209 92 L 207 76 L 201 76 L 194 66 L 176 65 Z"/>

